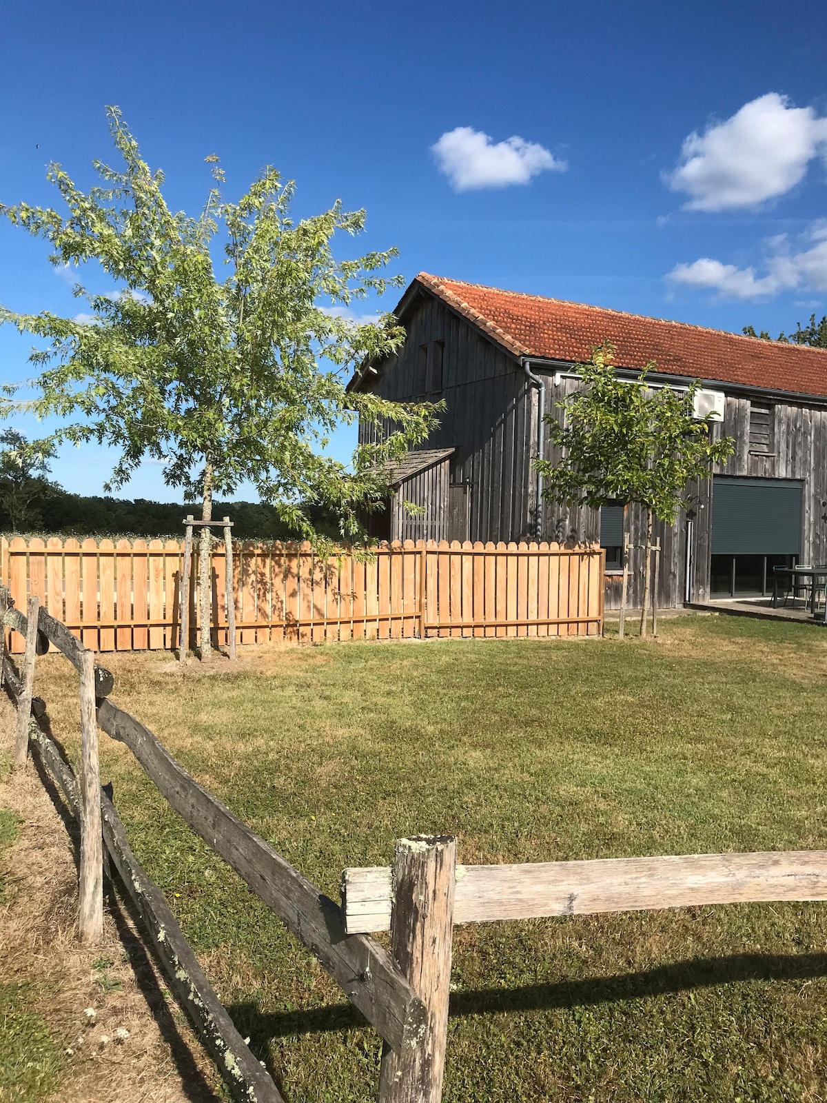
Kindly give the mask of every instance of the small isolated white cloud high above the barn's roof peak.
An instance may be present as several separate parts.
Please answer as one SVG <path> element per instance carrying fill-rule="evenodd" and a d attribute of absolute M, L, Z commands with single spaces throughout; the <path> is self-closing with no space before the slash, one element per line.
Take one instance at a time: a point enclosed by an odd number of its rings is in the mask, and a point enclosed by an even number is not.
<path fill-rule="evenodd" d="M 544 146 L 514 135 L 494 142 L 488 135 L 472 127 L 457 127 L 431 146 L 437 164 L 457 192 L 481 188 L 507 188 L 527 184 L 539 172 L 565 172 L 566 161 L 554 157 Z"/>

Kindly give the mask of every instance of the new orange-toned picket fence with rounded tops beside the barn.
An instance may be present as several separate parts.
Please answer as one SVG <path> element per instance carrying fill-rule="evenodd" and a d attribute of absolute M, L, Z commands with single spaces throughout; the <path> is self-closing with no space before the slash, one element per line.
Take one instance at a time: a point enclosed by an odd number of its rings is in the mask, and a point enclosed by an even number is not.
<path fill-rule="evenodd" d="M 183 542 L 0 542 L 0 581 L 93 651 L 172 650 L 180 641 Z M 412 636 L 598 635 L 605 553 L 597 546 L 384 544 L 368 557 L 309 544 L 234 545 L 237 639 L 245 643 Z M 190 646 L 198 632 L 190 572 Z M 213 552 L 213 625 L 227 643 L 224 548 Z M 22 650 L 22 641 L 14 644 Z"/>

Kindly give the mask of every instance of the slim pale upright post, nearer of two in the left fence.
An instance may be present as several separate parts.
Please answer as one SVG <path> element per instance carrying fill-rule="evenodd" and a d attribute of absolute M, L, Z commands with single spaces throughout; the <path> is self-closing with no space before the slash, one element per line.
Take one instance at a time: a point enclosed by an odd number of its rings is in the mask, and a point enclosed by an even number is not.
<path fill-rule="evenodd" d="M 82 942 L 104 933 L 104 843 L 100 823 L 100 764 L 95 710 L 95 656 L 80 654 L 80 886 L 77 932 Z"/>

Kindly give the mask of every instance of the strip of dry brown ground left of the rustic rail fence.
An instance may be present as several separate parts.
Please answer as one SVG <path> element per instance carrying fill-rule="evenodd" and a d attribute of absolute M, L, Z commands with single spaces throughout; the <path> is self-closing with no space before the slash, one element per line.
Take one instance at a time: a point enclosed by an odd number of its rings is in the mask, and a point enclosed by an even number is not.
<path fill-rule="evenodd" d="M 45 1024 L 58 1054 L 60 1086 L 41 1095 L 31 1085 L 0 1084 L 0 1101 L 218 1100 L 214 1067 L 110 890 L 104 941 L 94 947 L 78 943 L 74 821 L 62 817 L 60 799 L 44 786 L 31 760 L 25 771 L 8 771 L 13 729 L 14 710 L 3 695 L 0 807 L 12 810 L 20 825 L 3 859 L 0 984 L 18 986 L 25 1013 Z"/>

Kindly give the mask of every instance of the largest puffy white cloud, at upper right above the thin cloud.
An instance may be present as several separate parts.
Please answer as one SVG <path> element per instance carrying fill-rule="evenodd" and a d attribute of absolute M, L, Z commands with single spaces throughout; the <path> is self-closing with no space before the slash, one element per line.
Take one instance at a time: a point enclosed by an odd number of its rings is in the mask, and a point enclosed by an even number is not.
<path fill-rule="evenodd" d="M 794 188 L 819 153 L 827 163 L 827 118 L 770 92 L 702 135 L 690 133 L 664 181 L 689 193 L 689 211 L 754 207 Z"/>

